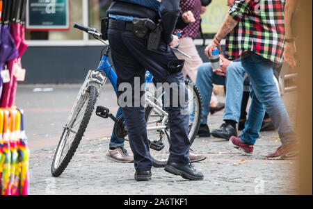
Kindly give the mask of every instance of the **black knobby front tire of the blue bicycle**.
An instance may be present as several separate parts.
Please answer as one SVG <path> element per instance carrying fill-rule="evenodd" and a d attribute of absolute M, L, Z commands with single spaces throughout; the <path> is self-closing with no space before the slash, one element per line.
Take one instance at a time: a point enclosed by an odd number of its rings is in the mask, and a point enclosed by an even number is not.
<path fill-rule="evenodd" d="M 81 139 L 83 137 L 83 133 L 85 133 L 85 131 L 86 131 L 86 128 L 87 128 L 88 123 L 90 121 L 90 117 L 93 114 L 93 110 L 95 109 L 95 103 L 97 101 L 97 90 L 94 86 L 90 86 L 90 87 L 88 87 L 87 92 L 88 92 L 88 99 L 86 99 L 86 101 L 84 101 L 83 104 L 81 105 L 81 108 L 83 108 L 83 105 L 86 104 L 86 102 L 87 102 L 86 110 L 85 110 L 85 112 L 83 112 L 83 119 L 82 119 L 81 123 L 79 124 L 79 128 L 77 130 L 77 133 L 74 136 L 74 140 L 72 140 L 72 144 L 70 145 L 70 149 L 68 149 L 67 153 L 65 153 L 65 157 L 63 158 L 63 160 L 61 162 L 58 163 L 58 166 L 56 167 L 55 164 L 56 164 L 56 157 L 58 155 L 58 151 L 61 148 L 64 149 L 64 146 L 61 147 L 61 143 L 63 142 L 63 136 L 65 133 L 70 134 L 66 128 L 63 129 L 63 133 L 61 135 L 60 141 L 58 142 L 58 147 L 56 148 L 56 152 L 54 153 L 54 159 L 53 159 L 52 165 L 51 165 L 51 174 L 54 177 L 60 176 L 64 172 L 64 170 L 66 169 L 67 165 L 70 163 L 70 160 L 72 160 L 72 157 L 74 156 L 74 153 L 77 150 L 79 143 L 81 142 Z M 75 118 L 75 120 L 76 119 L 77 119 L 77 117 Z M 68 135 L 67 135 L 67 137 L 68 137 Z"/>

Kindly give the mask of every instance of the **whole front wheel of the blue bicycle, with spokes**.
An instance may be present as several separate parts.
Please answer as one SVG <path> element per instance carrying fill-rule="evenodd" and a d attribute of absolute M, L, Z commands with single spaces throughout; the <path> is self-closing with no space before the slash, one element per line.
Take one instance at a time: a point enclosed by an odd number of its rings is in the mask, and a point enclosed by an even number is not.
<path fill-rule="evenodd" d="M 51 165 L 52 176 L 60 176 L 72 160 L 95 109 L 96 101 L 97 90 L 94 86 L 88 87 L 86 93 L 77 101 L 77 106 L 74 108 L 67 126 L 63 129 L 60 142 L 54 153 Z"/>

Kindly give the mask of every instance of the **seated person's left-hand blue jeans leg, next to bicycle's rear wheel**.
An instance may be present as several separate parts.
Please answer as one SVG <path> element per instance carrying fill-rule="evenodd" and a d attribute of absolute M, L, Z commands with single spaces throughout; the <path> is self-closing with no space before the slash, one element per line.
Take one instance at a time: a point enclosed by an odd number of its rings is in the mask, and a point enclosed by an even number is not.
<path fill-rule="evenodd" d="M 211 62 L 200 65 L 198 68 L 197 78 L 195 80 L 195 85 L 198 87 L 202 98 L 202 116 L 200 124 L 207 124 L 213 84 L 225 85 L 225 76 L 218 76 L 212 72 Z M 194 112 L 191 112 L 189 120 L 193 122 L 194 117 Z"/>

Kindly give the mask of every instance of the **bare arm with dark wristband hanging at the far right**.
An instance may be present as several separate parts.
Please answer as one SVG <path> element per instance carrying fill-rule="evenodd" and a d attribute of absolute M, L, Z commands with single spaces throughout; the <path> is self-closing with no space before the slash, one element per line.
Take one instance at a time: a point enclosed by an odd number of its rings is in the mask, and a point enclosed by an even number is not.
<path fill-rule="evenodd" d="M 292 40 L 292 28 L 291 28 L 291 20 L 292 15 L 296 10 L 297 0 L 287 0 L 286 5 L 284 6 L 284 28 L 287 40 Z M 284 60 L 291 65 L 291 67 L 296 67 L 296 58 L 294 54 L 296 53 L 296 44 L 294 41 L 287 42 L 286 47 L 284 49 Z"/>

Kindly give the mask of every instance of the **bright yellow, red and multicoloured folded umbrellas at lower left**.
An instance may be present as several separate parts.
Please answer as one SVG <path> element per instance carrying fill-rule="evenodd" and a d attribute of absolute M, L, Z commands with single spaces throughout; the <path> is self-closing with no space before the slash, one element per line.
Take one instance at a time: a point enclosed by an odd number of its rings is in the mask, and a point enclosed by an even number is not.
<path fill-rule="evenodd" d="M 0 194 L 29 194 L 29 148 L 21 109 L 0 108 Z"/>

